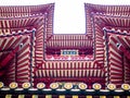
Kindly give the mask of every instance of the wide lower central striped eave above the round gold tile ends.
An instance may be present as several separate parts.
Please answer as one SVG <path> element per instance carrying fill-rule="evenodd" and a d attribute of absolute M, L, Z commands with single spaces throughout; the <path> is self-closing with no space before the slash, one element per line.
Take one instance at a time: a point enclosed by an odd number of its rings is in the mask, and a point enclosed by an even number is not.
<path fill-rule="evenodd" d="M 37 70 L 36 76 L 43 77 L 104 77 L 104 69 L 92 61 L 47 61 Z M 80 79 L 80 78 L 79 78 Z"/>

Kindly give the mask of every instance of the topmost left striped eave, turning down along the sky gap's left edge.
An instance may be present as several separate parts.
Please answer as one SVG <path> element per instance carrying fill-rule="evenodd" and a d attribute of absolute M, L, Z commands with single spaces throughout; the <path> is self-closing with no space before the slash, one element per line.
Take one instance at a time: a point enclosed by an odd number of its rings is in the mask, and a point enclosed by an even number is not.
<path fill-rule="evenodd" d="M 1 5 L 0 17 L 23 17 L 31 15 L 46 15 L 47 21 L 47 36 L 53 33 L 53 14 L 54 3 L 40 4 L 40 5 Z"/>

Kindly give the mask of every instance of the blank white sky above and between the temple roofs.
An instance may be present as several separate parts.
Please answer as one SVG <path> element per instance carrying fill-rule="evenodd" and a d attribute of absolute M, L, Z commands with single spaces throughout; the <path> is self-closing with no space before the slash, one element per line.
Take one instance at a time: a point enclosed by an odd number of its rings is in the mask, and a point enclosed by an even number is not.
<path fill-rule="evenodd" d="M 0 0 L 0 5 L 31 5 L 55 2 L 54 34 L 84 34 L 84 2 L 94 4 L 130 4 L 130 0 Z"/>

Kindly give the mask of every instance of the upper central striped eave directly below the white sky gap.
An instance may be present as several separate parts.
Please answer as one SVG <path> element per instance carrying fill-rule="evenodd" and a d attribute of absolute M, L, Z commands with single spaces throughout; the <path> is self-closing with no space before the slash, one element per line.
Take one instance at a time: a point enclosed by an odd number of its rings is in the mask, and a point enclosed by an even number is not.
<path fill-rule="evenodd" d="M 92 39 L 86 35 L 54 35 L 47 39 L 49 48 L 92 48 Z"/>

